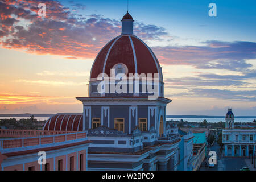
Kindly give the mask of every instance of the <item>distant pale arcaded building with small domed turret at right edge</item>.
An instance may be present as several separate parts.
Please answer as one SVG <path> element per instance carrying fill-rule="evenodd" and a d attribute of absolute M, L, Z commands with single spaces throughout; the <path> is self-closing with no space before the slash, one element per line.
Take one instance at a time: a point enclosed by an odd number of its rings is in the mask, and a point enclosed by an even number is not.
<path fill-rule="evenodd" d="M 256 146 L 256 129 L 234 127 L 232 109 L 226 113 L 225 129 L 222 130 L 222 143 L 225 156 L 249 156 L 254 154 Z"/>

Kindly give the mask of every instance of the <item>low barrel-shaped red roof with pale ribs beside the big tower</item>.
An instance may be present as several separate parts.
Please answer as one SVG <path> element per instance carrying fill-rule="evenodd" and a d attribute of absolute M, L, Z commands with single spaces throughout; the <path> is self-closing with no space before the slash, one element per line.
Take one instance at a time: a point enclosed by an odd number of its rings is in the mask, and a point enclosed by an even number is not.
<path fill-rule="evenodd" d="M 56 114 L 44 124 L 43 130 L 82 131 L 82 114 Z"/>

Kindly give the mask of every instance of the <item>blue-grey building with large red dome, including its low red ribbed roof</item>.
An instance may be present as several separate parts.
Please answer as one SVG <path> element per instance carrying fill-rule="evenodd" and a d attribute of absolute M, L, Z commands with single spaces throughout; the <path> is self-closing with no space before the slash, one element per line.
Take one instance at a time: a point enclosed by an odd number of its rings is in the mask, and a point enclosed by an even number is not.
<path fill-rule="evenodd" d="M 43 130 L 86 131 L 89 170 L 177 170 L 179 142 L 166 123 L 162 68 L 152 50 L 133 35 L 123 16 L 122 33 L 98 53 L 82 114 L 56 114 Z"/>

